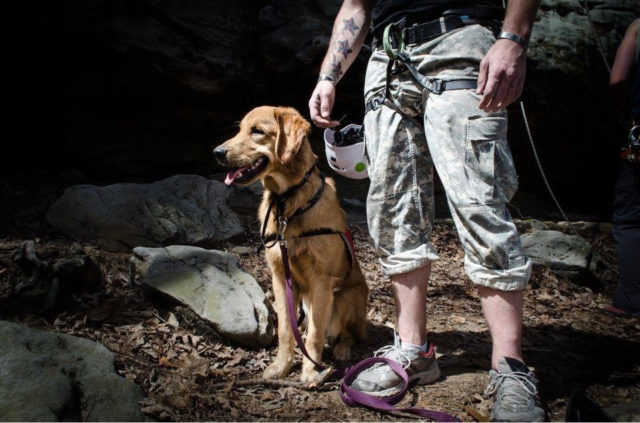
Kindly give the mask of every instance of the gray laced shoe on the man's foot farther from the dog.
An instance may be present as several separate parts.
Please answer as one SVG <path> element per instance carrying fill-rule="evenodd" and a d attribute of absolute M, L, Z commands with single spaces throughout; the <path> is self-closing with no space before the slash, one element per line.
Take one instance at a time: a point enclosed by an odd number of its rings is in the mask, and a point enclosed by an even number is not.
<path fill-rule="evenodd" d="M 491 381 L 484 392 L 486 396 L 496 396 L 491 421 L 545 421 L 546 413 L 538 397 L 538 380 L 533 372 L 523 362 L 511 357 L 501 358 L 498 370 L 489 371 Z"/>

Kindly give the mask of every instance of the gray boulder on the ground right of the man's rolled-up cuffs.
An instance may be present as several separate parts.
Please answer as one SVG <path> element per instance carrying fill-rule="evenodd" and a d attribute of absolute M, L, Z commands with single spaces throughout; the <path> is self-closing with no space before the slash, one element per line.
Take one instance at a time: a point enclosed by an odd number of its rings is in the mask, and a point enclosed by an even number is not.
<path fill-rule="evenodd" d="M 572 275 L 581 270 L 593 269 L 594 253 L 584 238 L 559 231 L 537 230 L 522 235 L 524 253 L 534 264 Z"/>

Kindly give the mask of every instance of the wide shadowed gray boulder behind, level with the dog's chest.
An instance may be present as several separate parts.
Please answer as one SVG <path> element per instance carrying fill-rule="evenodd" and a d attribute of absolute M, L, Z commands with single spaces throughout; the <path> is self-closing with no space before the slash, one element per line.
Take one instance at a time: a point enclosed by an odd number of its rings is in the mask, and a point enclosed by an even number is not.
<path fill-rule="evenodd" d="M 224 184 L 196 175 L 150 184 L 76 185 L 51 206 L 46 218 L 72 239 L 113 251 L 204 243 L 244 231 L 225 202 L 229 193 Z"/>

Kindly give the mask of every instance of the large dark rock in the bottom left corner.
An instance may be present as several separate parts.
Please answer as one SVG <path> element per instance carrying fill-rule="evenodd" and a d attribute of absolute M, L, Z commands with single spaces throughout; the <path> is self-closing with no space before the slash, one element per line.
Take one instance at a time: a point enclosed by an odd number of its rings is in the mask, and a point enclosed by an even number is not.
<path fill-rule="evenodd" d="M 147 420 L 104 346 L 4 321 L 0 339 L 0 421 Z"/>

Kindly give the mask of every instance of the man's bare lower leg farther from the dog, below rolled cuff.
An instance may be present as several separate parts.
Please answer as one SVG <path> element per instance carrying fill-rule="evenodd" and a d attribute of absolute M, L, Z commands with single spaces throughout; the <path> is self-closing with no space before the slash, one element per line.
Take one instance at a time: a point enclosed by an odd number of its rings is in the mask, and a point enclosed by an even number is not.
<path fill-rule="evenodd" d="M 493 340 L 491 366 L 497 370 L 498 360 L 502 357 L 524 362 L 521 350 L 524 291 L 499 291 L 479 286 L 478 294 Z"/>

